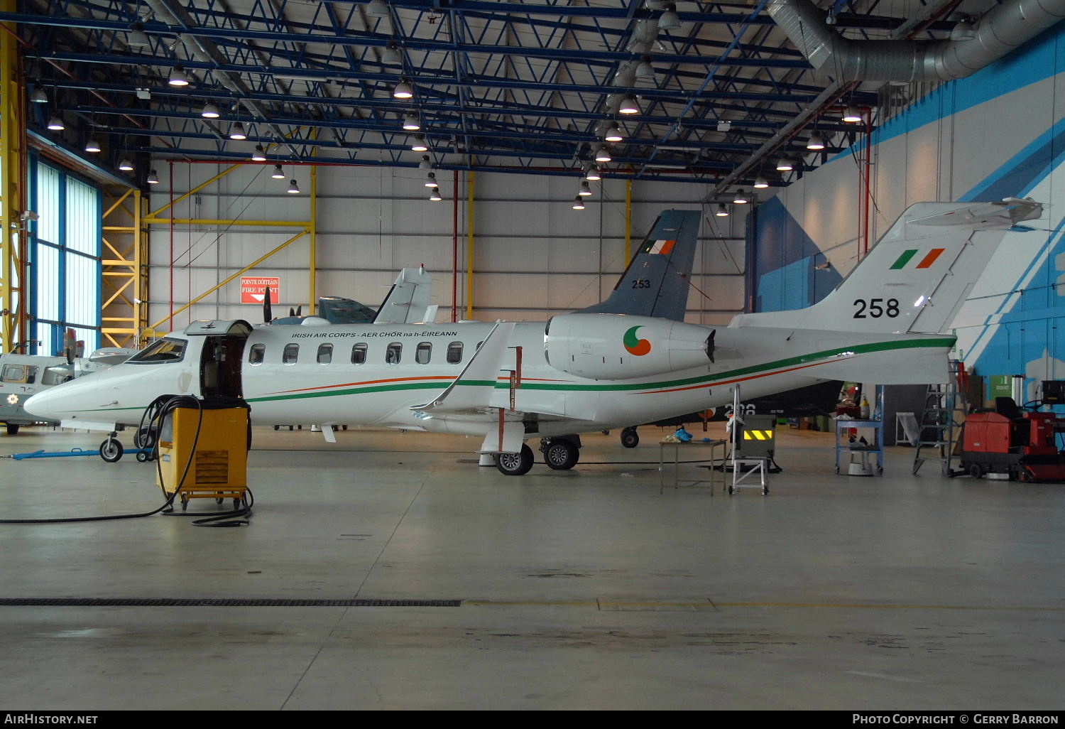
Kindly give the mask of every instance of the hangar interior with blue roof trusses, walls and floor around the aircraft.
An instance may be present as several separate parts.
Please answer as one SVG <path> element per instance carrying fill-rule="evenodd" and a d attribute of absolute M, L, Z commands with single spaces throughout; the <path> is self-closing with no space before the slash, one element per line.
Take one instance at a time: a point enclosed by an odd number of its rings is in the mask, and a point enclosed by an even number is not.
<path fill-rule="evenodd" d="M 376 308 L 420 265 L 436 322 L 543 322 L 606 298 L 667 209 L 700 213 L 685 321 L 727 327 L 822 301 L 913 204 L 1032 198 L 947 334 L 979 405 L 1039 401 L 1065 379 L 1063 16 L 0 0 L 2 352 L 258 326 L 245 276 L 278 279 L 274 314 Z M 4 523 L 5 704 L 1061 708 L 1060 481 L 918 469 L 890 425 L 883 474 L 849 477 L 838 433 L 780 423 L 769 493 L 730 495 L 699 446 L 669 483 L 673 427 L 508 477 L 476 438 L 312 424 L 252 428 L 246 528 Z M 0 454 L 98 439 L 9 427 Z M 151 464 L 73 463 L 4 459 L 0 517 L 158 506 Z"/>

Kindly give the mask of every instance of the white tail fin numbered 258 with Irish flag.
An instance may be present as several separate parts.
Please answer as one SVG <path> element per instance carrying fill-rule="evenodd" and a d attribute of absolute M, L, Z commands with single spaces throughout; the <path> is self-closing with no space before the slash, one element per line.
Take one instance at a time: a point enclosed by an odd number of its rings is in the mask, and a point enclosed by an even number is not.
<path fill-rule="evenodd" d="M 939 334 L 1021 221 L 1043 214 L 1031 199 L 918 203 L 828 296 L 805 309 L 738 314 L 730 326 Z"/>

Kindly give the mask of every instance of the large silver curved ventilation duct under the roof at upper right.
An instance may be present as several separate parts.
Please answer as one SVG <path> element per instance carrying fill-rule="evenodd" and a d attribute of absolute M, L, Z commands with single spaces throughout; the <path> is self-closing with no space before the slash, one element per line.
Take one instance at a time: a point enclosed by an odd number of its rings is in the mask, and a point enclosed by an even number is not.
<path fill-rule="evenodd" d="M 810 64 L 837 81 L 949 81 L 971 76 L 1065 17 L 1061 0 L 1006 0 L 971 40 L 855 40 L 809 0 L 769 0 L 770 17 Z"/>

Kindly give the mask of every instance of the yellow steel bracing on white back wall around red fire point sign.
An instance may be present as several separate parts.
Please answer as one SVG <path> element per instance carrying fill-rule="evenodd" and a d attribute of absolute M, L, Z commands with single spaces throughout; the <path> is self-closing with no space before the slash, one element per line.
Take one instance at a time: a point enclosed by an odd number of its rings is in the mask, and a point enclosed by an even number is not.
<path fill-rule="evenodd" d="M 0 2 L 2 2 L 2 1 L 3 0 L 0 0 Z M 258 258 L 252 263 L 249 263 L 248 265 L 244 266 L 243 269 L 241 269 L 240 271 L 237 271 L 236 273 L 234 273 L 232 276 L 228 277 L 226 280 L 219 281 L 215 286 L 211 287 L 210 289 L 208 289 L 207 291 L 204 291 L 203 293 L 201 293 L 199 296 L 197 296 L 196 298 L 192 299 L 191 302 L 189 302 L 187 304 L 185 304 L 184 306 L 182 306 L 180 309 L 175 309 L 174 311 L 170 311 L 165 317 L 163 317 L 162 319 L 160 319 L 158 322 L 154 322 L 154 323 L 150 324 L 148 327 L 146 327 L 144 329 L 143 336 L 144 336 L 145 339 L 150 339 L 150 338 L 153 338 L 153 337 L 162 337 L 162 336 L 164 336 L 166 334 L 165 331 L 158 331 L 157 330 L 157 327 L 160 324 L 163 324 L 168 319 L 171 319 L 176 314 L 179 314 L 182 311 L 185 311 L 186 309 L 189 309 L 190 307 L 192 307 L 194 304 L 202 301 L 207 296 L 210 296 L 212 293 L 214 293 L 215 291 L 217 291 L 222 287 L 226 286 L 227 284 L 229 284 L 230 281 L 232 281 L 233 279 L 235 279 L 237 276 L 240 276 L 242 274 L 245 274 L 248 271 L 252 270 L 253 268 L 256 268 L 257 265 L 259 265 L 260 263 L 262 263 L 263 261 L 265 261 L 267 258 L 269 258 L 274 254 L 278 253 L 279 250 L 284 249 L 285 247 L 288 247 L 292 243 L 295 243 L 296 241 L 298 241 L 299 239 L 301 239 L 304 236 L 309 236 L 310 237 L 310 262 L 309 262 L 310 270 L 309 270 L 309 276 L 310 276 L 310 296 L 311 296 L 311 302 L 310 302 L 310 306 L 308 308 L 309 308 L 309 310 L 310 310 L 311 313 L 314 313 L 314 305 L 317 302 L 317 299 L 315 297 L 315 278 L 316 278 L 316 275 L 317 275 L 317 260 L 316 260 L 316 253 L 317 252 L 315 249 L 315 246 L 316 246 L 316 233 L 317 233 L 317 167 L 316 166 L 312 166 L 311 167 L 311 211 L 310 211 L 311 212 L 311 215 L 310 215 L 311 220 L 310 221 L 242 221 L 242 220 L 214 220 L 214 218 L 209 220 L 209 218 L 202 218 L 202 217 L 166 217 L 166 216 L 164 216 L 162 214 L 164 211 L 166 211 L 169 208 L 170 214 L 173 215 L 173 213 L 174 213 L 173 206 L 177 205 L 181 200 L 187 199 L 192 195 L 195 195 L 196 193 L 198 193 L 200 190 L 203 190 L 204 188 L 207 188 L 208 185 L 213 184 L 214 182 L 217 182 L 219 179 L 222 179 L 226 175 L 232 173 L 235 169 L 240 169 L 242 166 L 243 166 L 242 164 L 233 164 L 233 165 L 231 165 L 229 168 L 224 169 L 223 172 L 218 173 L 217 175 L 215 175 L 211 179 L 209 179 L 209 180 L 207 180 L 207 181 L 204 181 L 204 182 L 196 185 L 195 188 L 193 188 L 189 192 L 184 193 L 183 195 L 180 195 L 180 196 L 174 198 L 173 201 L 167 201 L 166 205 L 164 205 L 164 206 L 162 206 L 162 207 L 153 210 L 147 216 L 141 218 L 141 222 L 144 225 L 166 225 L 166 226 L 169 226 L 169 225 L 225 225 L 225 226 L 248 225 L 248 226 L 256 226 L 256 227 L 301 228 L 300 232 L 296 233 L 295 236 L 293 236 L 292 238 L 290 238 L 289 240 L 286 240 L 284 243 L 282 243 L 281 245 L 277 246 L 273 250 L 271 250 L 269 253 L 267 253 L 264 256 Z M 145 292 L 145 296 L 141 297 L 141 301 L 146 301 L 146 298 L 147 298 L 147 291 Z"/>

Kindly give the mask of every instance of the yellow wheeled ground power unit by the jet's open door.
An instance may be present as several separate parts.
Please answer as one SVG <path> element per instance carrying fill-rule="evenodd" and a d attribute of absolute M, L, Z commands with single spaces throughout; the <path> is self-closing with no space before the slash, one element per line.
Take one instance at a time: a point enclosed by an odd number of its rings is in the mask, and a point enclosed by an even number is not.
<path fill-rule="evenodd" d="M 163 415 L 159 436 L 159 487 L 191 499 L 247 503 L 249 406 L 237 398 L 180 398 Z"/>

